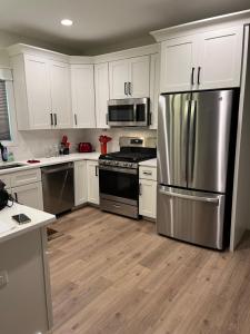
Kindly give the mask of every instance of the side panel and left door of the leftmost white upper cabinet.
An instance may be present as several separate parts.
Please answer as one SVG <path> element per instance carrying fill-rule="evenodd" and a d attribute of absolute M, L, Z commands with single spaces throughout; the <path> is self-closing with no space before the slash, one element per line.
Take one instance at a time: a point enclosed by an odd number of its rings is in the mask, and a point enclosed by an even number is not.
<path fill-rule="evenodd" d="M 12 68 L 18 129 L 51 128 L 48 60 L 18 55 L 12 58 Z"/>

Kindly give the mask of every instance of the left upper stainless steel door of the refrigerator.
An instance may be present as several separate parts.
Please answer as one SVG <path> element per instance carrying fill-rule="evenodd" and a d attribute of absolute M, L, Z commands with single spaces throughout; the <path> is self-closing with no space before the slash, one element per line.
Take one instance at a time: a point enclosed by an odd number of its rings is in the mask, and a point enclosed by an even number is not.
<path fill-rule="evenodd" d="M 191 94 L 162 95 L 158 115 L 158 181 L 187 187 Z"/>

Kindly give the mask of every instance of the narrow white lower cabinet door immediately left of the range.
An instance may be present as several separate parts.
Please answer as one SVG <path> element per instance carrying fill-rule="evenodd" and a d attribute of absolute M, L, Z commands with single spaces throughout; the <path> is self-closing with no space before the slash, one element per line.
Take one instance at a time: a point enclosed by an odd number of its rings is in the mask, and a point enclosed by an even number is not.
<path fill-rule="evenodd" d="M 98 161 L 87 161 L 88 202 L 99 205 L 99 170 Z"/>

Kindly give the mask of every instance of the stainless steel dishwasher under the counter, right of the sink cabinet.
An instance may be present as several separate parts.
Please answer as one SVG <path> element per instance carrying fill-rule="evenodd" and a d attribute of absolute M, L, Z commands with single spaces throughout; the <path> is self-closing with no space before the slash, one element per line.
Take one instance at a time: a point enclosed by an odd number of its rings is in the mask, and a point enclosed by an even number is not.
<path fill-rule="evenodd" d="M 73 163 L 41 168 L 44 212 L 58 215 L 74 205 Z"/>

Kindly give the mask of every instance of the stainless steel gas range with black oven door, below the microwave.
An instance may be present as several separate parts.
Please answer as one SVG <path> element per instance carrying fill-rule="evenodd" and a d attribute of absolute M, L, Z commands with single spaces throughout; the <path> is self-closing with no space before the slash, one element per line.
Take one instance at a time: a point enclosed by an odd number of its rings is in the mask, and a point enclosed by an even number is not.
<path fill-rule="evenodd" d="M 100 208 L 139 218 L 139 163 L 156 156 L 156 138 L 134 137 L 121 137 L 120 151 L 101 155 Z"/>

